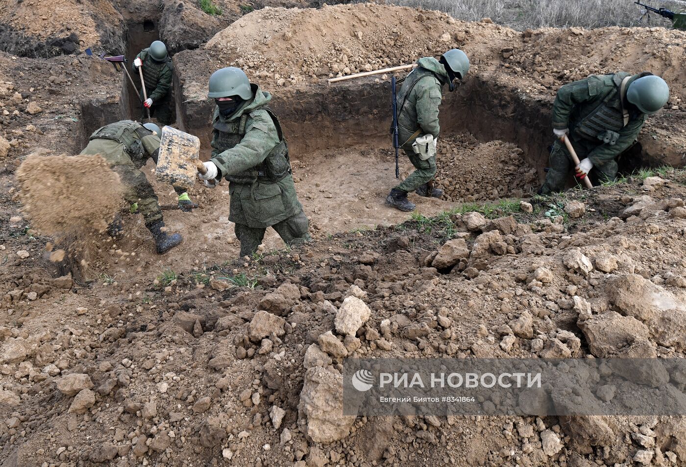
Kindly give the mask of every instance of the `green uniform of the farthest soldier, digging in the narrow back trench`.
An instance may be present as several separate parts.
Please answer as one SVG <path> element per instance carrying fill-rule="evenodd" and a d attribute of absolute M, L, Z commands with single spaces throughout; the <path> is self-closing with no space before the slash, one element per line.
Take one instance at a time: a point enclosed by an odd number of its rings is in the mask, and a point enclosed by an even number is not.
<path fill-rule="evenodd" d="M 149 53 L 150 48 L 141 50 L 136 56 L 143 61 L 143 82 L 147 97 L 152 99 L 150 106 L 150 117 L 154 117 L 160 122 L 160 126 L 169 125 L 173 120 L 171 111 L 171 58 L 164 62 L 153 60 Z M 136 65 L 132 65 L 132 70 L 136 75 L 139 74 Z M 143 88 L 140 90 L 141 102 L 143 102 Z M 147 117 L 147 109 L 141 104 L 143 117 Z"/>

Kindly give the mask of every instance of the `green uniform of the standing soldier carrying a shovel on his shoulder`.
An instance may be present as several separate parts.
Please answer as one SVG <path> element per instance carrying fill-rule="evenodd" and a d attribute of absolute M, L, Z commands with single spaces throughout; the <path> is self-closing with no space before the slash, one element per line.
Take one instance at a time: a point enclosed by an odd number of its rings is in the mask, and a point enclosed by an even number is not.
<path fill-rule="evenodd" d="M 398 141 L 416 169 L 395 187 L 404 192 L 414 192 L 434 179 L 436 157 L 423 161 L 412 150 L 412 144 L 420 135 L 430 134 L 438 138 L 438 106 L 442 87 L 449 82 L 445 67 L 436 58 L 420 58 L 417 65 L 405 78 L 398 94 Z"/>

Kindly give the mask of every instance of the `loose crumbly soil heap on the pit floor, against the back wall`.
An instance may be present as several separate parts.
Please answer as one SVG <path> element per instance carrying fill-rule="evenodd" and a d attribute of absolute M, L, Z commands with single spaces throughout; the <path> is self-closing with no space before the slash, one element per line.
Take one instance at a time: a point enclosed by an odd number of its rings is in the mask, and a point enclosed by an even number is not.
<path fill-rule="evenodd" d="M 469 134 L 439 139 L 436 181 L 449 201 L 521 197 L 538 182 L 536 169 L 512 143 L 480 143 Z"/>

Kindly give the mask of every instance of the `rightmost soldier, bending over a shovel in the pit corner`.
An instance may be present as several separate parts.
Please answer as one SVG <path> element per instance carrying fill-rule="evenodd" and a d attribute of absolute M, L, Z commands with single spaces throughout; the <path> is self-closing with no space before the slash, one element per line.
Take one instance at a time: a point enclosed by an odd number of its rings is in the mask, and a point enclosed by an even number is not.
<path fill-rule="evenodd" d="M 576 176 L 598 181 L 617 177 L 617 157 L 636 142 L 646 116 L 657 113 L 670 98 L 667 83 L 643 72 L 592 75 L 565 84 L 553 104 L 553 133 L 558 140 L 539 194 L 563 190 L 573 163 L 564 143 L 569 137 L 580 159 Z"/>

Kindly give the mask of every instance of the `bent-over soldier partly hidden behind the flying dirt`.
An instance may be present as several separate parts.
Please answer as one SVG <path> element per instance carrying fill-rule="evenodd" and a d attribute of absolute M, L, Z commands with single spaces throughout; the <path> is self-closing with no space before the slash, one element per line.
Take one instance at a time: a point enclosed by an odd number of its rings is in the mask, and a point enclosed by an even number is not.
<path fill-rule="evenodd" d="M 160 148 L 160 139 L 157 135 L 160 134 L 160 128 L 155 124 L 141 125 L 131 120 L 121 120 L 95 130 L 88 146 L 80 154 L 102 155 L 112 170 L 119 174 L 124 187 L 124 198 L 131 203 L 132 212 L 143 214 L 145 227 L 150 230 L 155 240 L 157 253 L 162 254 L 176 247 L 182 238 L 180 234 L 167 234 L 157 196 L 140 170 L 149 157 L 157 162 Z M 187 194 L 183 194 L 185 198 L 188 197 Z M 117 218 L 110 225 L 108 232 L 112 236 L 120 234 L 121 219 Z"/>

